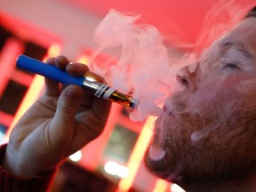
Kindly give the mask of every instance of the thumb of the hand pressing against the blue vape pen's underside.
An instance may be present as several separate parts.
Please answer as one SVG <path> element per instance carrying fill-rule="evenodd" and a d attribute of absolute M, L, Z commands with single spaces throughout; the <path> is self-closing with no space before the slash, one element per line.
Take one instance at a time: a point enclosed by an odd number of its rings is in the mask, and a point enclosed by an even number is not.
<path fill-rule="evenodd" d="M 83 96 L 83 90 L 77 85 L 68 85 L 60 94 L 56 113 L 53 118 L 55 126 L 61 129 L 73 127 L 76 112 Z"/>

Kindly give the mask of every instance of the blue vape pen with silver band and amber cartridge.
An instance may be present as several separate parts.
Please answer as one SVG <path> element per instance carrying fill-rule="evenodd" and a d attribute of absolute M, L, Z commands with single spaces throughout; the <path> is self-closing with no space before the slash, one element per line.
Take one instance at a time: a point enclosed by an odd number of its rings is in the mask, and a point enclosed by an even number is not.
<path fill-rule="evenodd" d="M 86 78 L 86 76 L 69 76 L 68 73 L 60 70 L 60 68 L 47 65 L 42 61 L 29 58 L 25 55 L 20 55 L 18 57 L 16 65 L 18 68 L 22 68 L 38 75 L 51 78 L 52 80 L 58 81 L 62 84 L 79 85 L 84 90 L 92 92 L 94 96 L 103 100 L 111 100 L 130 108 L 136 108 L 138 105 L 138 100 L 134 100 L 131 95 L 117 92 L 107 84 L 102 84 L 93 80 L 92 78 Z"/>

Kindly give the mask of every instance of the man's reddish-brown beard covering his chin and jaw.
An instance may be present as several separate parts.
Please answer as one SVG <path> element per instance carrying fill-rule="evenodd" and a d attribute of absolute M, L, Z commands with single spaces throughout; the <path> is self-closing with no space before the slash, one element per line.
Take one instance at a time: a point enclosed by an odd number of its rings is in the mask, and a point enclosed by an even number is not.
<path fill-rule="evenodd" d="M 156 121 L 144 156 L 148 171 L 176 183 L 242 177 L 256 159 L 255 98 L 252 94 L 244 100 L 237 92 L 223 92 L 188 110 L 185 98 L 177 95 L 172 110 L 180 112 Z M 164 157 L 152 159 L 152 147 L 163 148 Z"/>

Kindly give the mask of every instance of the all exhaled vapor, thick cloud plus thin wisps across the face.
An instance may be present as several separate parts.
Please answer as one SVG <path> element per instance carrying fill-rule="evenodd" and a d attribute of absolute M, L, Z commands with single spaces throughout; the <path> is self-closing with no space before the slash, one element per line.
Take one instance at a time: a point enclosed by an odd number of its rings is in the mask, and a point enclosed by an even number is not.
<path fill-rule="evenodd" d="M 253 2 L 254 0 L 248 1 Z M 215 1 L 212 1 L 213 3 L 215 4 Z M 167 124 L 169 123 L 168 116 L 172 113 L 198 113 L 202 116 L 200 114 L 204 111 L 202 103 L 205 104 L 215 99 L 226 75 L 229 74 L 229 71 L 223 70 L 225 64 L 228 64 L 229 60 L 244 60 L 244 58 L 237 58 L 236 50 L 232 48 L 228 49 L 225 54 L 221 53 L 221 50 L 212 42 L 217 36 L 233 28 L 238 20 L 242 20 L 242 15 L 245 15 L 245 12 L 249 10 L 249 6 L 220 0 L 218 4 L 212 7 L 212 10 L 205 17 L 205 25 L 203 25 L 197 44 L 195 44 L 195 52 L 188 54 L 184 60 L 179 62 L 171 61 L 167 48 L 163 44 L 163 38 L 156 28 L 136 23 L 140 18 L 139 15 L 127 15 L 111 10 L 95 30 L 94 36 L 100 44 L 100 48 L 92 56 L 91 69 L 104 76 L 108 84 L 120 92 L 132 93 L 135 99 L 140 100 L 138 108 L 130 114 L 132 120 L 142 121 L 148 115 L 162 115 L 158 120 L 156 143 L 153 143 L 149 150 L 151 159 L 155 161 L 164 158 L 165 150 L 162 149 L 164 140 L 166 140 L 164 135 L 165 132 L 174 127 L 173 124 Z M 216 25 L 218 22 L 220 25 Z M 212 28 L 213 26 L 215 27 Z M 212 44 L 212 48 L 203 52 L 205 46 L 210 44 Z M 121 47 L 121 55 L 116 60 L 106 61 L 108 65 L 101 68 L 102 65 L 98 66 L 97 63 L 93 63 L 93 58 L 108 47 Z M 198 56 L 197 53 L 202 53 L 202 56 Z M 222 55 L 221 58 L 220 55 Z M 187 101 L 187 105 L 186 108 L 181 110 L 179 108 L 178 110 L 172 107 L 172 103 L 175 102 L 173 98 L 167 102 L 165 100 L 172 92 L 180 89 L 180 85 L 176 81 L 178 70 L 184 65 L 195 63 L 195 60 L 199 60 L 196 63 L 200 68 L 200 73 L 196 76 L 197 90 L 193 94 L 190 92 L 188 95 L 182 95 Z M 178 63 L 179 65 L 176 65 Z M 189 67 L 190 73 L 195 70 L 195 65 Z M 223 75 L 222 77 L 219 76 L 220 73 Z M 242 84 L 241 82 L 237 91 L 247 92 L 252 87 L 250 83 L 244 82 Z M 163 103 L 166 107 L 164 113 L 159 108 Z M 223 119 L 220 119 L 221 122 Z M 209 127 L 194 132 L 191 139 L 194 141 L 201 140 L 216 127 L 218 127 L 216 124 L 210 124 Z"/>

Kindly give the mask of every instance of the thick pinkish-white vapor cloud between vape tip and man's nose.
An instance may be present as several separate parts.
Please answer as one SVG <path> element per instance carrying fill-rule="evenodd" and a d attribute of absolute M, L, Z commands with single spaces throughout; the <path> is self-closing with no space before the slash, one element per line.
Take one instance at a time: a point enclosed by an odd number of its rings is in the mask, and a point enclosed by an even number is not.
<path fill-rule="evenodd" d="M 141 121 L 148 115 L 159 116 L 164 102 L 175 87 L 176 69 L 171 66 L 167 49 L 158 30 L 137 24 L 138 15 L 125 15 L 111 10 L 96 28 L 94 36 L 100 51 L 108 47 L 121 47 L 120 58 L 102 71 L 91 63 L 93 71 L 104 76 L 117 90 L 140 100 L 138 108 L 130 114 L 132 120 Z M 176 81 L 175 81 L 176 82 Z"/>

